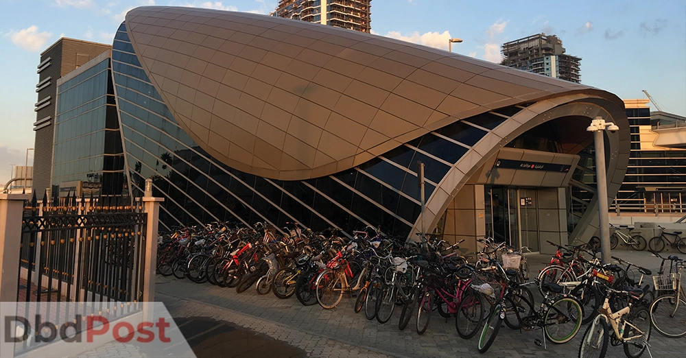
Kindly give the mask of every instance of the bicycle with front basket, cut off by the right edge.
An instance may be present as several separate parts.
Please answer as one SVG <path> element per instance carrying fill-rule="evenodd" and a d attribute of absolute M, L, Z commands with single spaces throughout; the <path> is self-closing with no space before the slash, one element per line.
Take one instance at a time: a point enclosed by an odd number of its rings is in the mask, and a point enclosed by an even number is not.
<path fill-rule="evenodd" d="M 681 285 L 681 271 L 686 266 L 685 261 L 676 256 L 663 259 L 658 276 L 653 276 L 656 292 L 663 294 L 650 305 L 650 320 L 657 331 L 670 338 L 680 338 L 686 335 L 686 293 Z M 663 273 L 663 265 L 666 260 L 672 261 L 672 267 L 676 272 Z M 672 270 L 670 270 L 672 271 Z"/>

